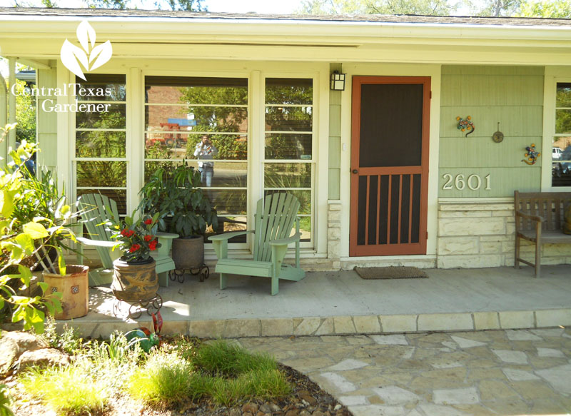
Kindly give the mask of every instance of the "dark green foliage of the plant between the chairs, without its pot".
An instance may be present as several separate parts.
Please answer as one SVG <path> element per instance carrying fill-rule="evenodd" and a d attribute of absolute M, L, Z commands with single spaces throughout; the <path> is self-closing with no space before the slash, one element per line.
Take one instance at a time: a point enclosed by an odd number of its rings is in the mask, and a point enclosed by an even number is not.
<path fill-rule="evenodd" d="M 153 218 L 157 215 L 161 231 L 181 238 L 204 235 L 208 225 L 218 228 L 218 217 L 200 185 L 200 172 L 186 161 L 158 168 L 141 188 L 138 208 Z"/>

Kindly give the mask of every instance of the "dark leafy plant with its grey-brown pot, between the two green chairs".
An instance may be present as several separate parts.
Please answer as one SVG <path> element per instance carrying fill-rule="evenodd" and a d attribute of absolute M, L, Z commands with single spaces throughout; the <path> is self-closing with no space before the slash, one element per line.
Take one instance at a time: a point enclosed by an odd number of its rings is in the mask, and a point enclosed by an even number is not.
<path fill-rule="evenodd" d="M 158 168 L 139 192 L 139 208 L 153 217 L 158 215 L 159 230 L 180 235 L 173 240 L 177 270 L 202 267 L 206 228 L 218 228 L 216 210 L 200 185 L 200 172 L 182 161 Z"/>

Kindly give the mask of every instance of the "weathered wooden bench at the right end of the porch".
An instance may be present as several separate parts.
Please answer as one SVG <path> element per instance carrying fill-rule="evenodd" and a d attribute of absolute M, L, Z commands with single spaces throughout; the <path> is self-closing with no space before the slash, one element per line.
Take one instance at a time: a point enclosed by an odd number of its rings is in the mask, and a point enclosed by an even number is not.
<path fill-rule="evenodd" d="M 571 244 L 571 235 L 563 233 L 563 215 L 571 204 L 571 192 L 514 193 L 515 268 L 520 262 L 535 268 L 540 277 L 541 245 Z M 535 243 L 535 264 L 520 258 L 520 238 Z"/>

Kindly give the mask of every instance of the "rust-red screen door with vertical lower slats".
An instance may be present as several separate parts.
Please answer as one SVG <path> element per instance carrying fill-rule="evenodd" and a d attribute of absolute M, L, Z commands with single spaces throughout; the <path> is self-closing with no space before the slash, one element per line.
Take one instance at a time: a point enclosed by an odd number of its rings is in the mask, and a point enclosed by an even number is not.
<path fill-rule="evenodd" d="M 353 77 L 349 253 L 426 253 L 429 77 Z"/>

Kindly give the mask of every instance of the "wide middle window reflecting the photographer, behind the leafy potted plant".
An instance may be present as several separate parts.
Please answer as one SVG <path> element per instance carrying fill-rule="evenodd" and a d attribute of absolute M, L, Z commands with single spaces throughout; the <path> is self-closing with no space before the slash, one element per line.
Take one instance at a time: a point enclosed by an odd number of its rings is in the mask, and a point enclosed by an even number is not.
<path fill-rule="evenodd" d="M 165 163 L 201 171 L 218 233 L 246 230 L 247 78 L 146 76 L 145 178 Z"/>

